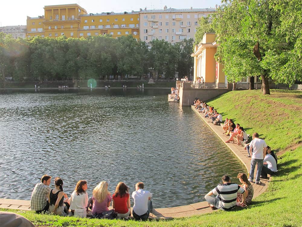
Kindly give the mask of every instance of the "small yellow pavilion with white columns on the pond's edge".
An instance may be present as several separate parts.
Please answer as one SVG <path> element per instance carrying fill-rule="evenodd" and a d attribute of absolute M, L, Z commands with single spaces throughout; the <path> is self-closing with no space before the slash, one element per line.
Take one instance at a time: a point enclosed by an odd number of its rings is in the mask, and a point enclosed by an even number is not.
<path fill-rule="evenodd" d="M 223 65 L 217 62 L 214 55 L 217 52 L 215 33 L 205 33 L 202 41 L 194 47 L 194 81 L 203 77 L 206 83 L 227 83 Z"/>

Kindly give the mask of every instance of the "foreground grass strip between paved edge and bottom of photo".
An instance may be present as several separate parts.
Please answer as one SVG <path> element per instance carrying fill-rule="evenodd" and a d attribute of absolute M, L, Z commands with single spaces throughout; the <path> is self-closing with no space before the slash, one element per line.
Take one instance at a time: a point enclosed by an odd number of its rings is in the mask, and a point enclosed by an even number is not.
<path fill-rule="evenodd" d="M 302 146 L 285 153 L 278 162 L 279 171 L 268 190 L 255 198 L 252 205 L 239 211 L 218 211 L 211 214 L 170 221 L 136 222 L 133 220 L 99 220 L 32 211 L 8 210 L 19 213 L 37 226 L 302 226 L 301 181 Z M 5 210 L 5 209 L 1 209 Z"/>

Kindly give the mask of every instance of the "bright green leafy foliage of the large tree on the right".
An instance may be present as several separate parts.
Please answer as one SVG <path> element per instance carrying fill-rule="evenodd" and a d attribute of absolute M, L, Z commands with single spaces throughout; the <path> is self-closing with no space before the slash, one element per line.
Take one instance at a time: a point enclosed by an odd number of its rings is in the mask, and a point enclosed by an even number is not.
<path fill-rule="evenodd" d="M 224 64 L 229 81 L 255 75 L 262 75 L 262 84 L 268 77 L 276 83 L 302 80 L 300 3 L 299 0 L 223 1 L 213 15 L 213 28 L 220 44 L 216 58 Z M 254 50 L 257 43 L 259 52 Z"/>

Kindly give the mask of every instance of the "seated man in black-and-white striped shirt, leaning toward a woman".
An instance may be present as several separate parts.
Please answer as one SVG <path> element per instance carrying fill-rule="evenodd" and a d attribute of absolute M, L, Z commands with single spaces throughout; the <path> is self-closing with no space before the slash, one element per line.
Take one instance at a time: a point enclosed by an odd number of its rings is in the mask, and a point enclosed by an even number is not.
<path fill-rule="evenodd" d="M 241 204 L 244 203 L 246 199 L 244 189 L 238 184 L 231 183 L 230 177 L 224 175 L 222 177 L 222 184 L 217 185 L 204 198 L 212 209 L 230 210 L 236 206 L 237 192 L 242 194 L 243 199 Z"/>

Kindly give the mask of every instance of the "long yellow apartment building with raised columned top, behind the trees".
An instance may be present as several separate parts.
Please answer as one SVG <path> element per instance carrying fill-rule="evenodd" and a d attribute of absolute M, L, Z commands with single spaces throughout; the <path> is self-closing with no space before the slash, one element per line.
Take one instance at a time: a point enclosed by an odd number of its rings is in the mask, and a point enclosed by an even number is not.
<path fill-rule="evenodd" d="M 110 34 L 113 38 L 133 35 L 139 39 L 139 12 L 87 14 L 78 4 L 49 5 L 44 16 L 27 17 L 26 37 L 40 35 L 56 38 L 81 38 Z"/>

